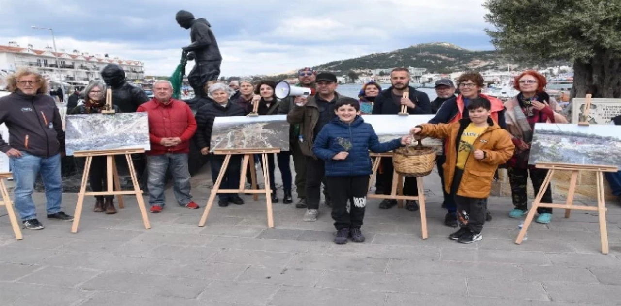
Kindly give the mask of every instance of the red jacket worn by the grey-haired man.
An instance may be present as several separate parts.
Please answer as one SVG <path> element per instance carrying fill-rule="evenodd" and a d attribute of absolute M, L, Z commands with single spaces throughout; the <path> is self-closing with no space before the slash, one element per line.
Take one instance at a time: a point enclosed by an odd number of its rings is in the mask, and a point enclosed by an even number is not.
<path fill-rule="evenodd" d="M 138 107 L 138 112 L 149 114 L 149 136 L 151 151 L 148 155 L 165 153 L 188 153 L 189 140 L 196 132 L 196 120 L 192 110 L 185 102 L 171 99 L 168 104 L 161 104 L 155 98 Z M 161 138 L 181 138 L 176 146 L 163 146 Z"/>

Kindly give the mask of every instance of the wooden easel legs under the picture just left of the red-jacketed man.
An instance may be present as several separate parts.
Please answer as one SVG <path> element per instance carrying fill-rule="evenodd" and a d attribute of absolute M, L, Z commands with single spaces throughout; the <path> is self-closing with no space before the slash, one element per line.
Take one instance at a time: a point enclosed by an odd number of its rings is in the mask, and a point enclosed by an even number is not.
<path fill-rule="evenodd" d="M 145 229 L 151 228 L 151 223 L 147 215 L 147 209 L 145 208 L 145 201 L 142 199 L 142 190 L 140 184 L 138 184 L 138 176 L 136 169 L 134 168 L 134 161 L 132 161 L 132 154 L 145 153 L 144 149 L 116 149 L 116 150 L 101 150 L 101 151 L 75 151 L 73 156 L 86 157 L 84 163 L 84 172 L 82 174 L 82 182 L 79 186 L 78 192 L 78 205 L 76 205 L 76 213 L 73 217 L 73 226 L 71 227 L 71 233 L 78 232 L 79 218 L 82 213 L 82 204 L 84 203 L 84 196 L 117 196 L 119 199 L 119 208 L 124 209 L 125 203 L 123 201 L 123 195 L 134 195 L 137 197 L 138 206 L 140 207 L 140 213 L 142 214 L 142 222 L 145 225 Z M 129 175 L 132 177 L 132 184 L 134 184 L 134 190 L 120 190 L 119 172 L 117 171 L 116 161 L 114 157 L 116 155 L 125 155 L 127 160 L 127 168 L 129 169 Z M 107 179 L 107 191 L 86 191 L 86 184 L 88 183 L 88 174 L 91 172 L 91 163 L 93 156 L 106 156 L 106 179 Z M 113 190 L 117 189 L 116 191 Z"/>

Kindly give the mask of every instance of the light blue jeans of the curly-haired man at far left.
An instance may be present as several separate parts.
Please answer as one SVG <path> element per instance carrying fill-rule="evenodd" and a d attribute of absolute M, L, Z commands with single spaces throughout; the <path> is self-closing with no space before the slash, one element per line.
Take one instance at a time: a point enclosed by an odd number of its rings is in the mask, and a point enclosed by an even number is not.
<path fill-rule="evenodd" d="M 32 192 L 38 174 L 41 174 L 45 187 L 47 214 L 60 212 L 60 204 L 63 201 L 60 153 L 50 157 L 39 157 L 22 151 L 22 156 L 12 157 L 10 164 L 15 181 L 15 208 L 22 221 L 37 218 L 37 207 L 32 201 Z"/>

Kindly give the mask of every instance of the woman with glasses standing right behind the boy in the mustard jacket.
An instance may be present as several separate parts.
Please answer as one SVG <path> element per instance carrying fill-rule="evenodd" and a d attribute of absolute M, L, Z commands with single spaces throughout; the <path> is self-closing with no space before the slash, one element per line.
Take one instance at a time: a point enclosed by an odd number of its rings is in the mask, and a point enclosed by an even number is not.
<path fill-rule="evenodd" d="M 461 76 L 457 79 L 458 89 L 460 90 L 460 94 L 456 97 L 452 97 L 451 99 L 446 100 L 438 112 L 435 114 L 432 120 L 429 121 L 430 124 L 449 124 L 451 122 L 456 122 L 458 120 L 468 118 L 468 104 L 470 101 L 473 101 L 476 98 L 483 98 L 490 102 L 492 105 L 491 115 L 490 117 L 494 122 L 496 122 L 500 127 L 507 128 L 505 124 L 505 115 L 504 115 L 504 106 L 502 105 L 502 101 L 497 99 L 496 97 L 487 96 L 486 94 L 481 93 L 481 89 L 484 86 L 483 76 L 481 76 L 478 72 L 469 72 L 461 74 Z M 446 146 L 445 146 L 446 147 Z M 444 179 L 440 177 L 442 181 L 442 188 L 446 190 L 446 186 L 444 186 Z M 445 196 L 446 197 L 446 196 Z M 444 218 L 444 224 L 447 227 L 457 227 L 457 214 L 456 214 L 456 205 L 455 200 L 453 200 L 453 195 L 449 194 L 448 199 L 444 199 L 444 203 L 446 203 L 446 216 Z M 492 219 L 491 214 L 487 212 L 486 221 L 490 221 Z"/>

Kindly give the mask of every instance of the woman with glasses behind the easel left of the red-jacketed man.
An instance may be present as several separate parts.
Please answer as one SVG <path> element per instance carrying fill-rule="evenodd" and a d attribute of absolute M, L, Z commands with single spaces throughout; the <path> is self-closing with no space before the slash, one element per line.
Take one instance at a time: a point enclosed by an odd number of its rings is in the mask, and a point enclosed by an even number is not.
<path fill-rule="evenodd" d="M 101 114 L 106 107 L 106 84 L 99 81 L 88 84 L 83 92 L 83 100 L 78 101 L 78 106 L 71 109 L 69 115 L 90 115 Z M 120 112 L 119 107 L 112 104 L 112 109 Z M 89 181 L 91 182 L 92 191 L 107 190 L 107 171 L 106 156 L 93 156 L 91 161 L 91 171 L 89 172 Z M 117 213 L 114 207 L 114 196 L 95 196 L 95 206 L 93 212 L 106 212 L 107 215 Z"/>

